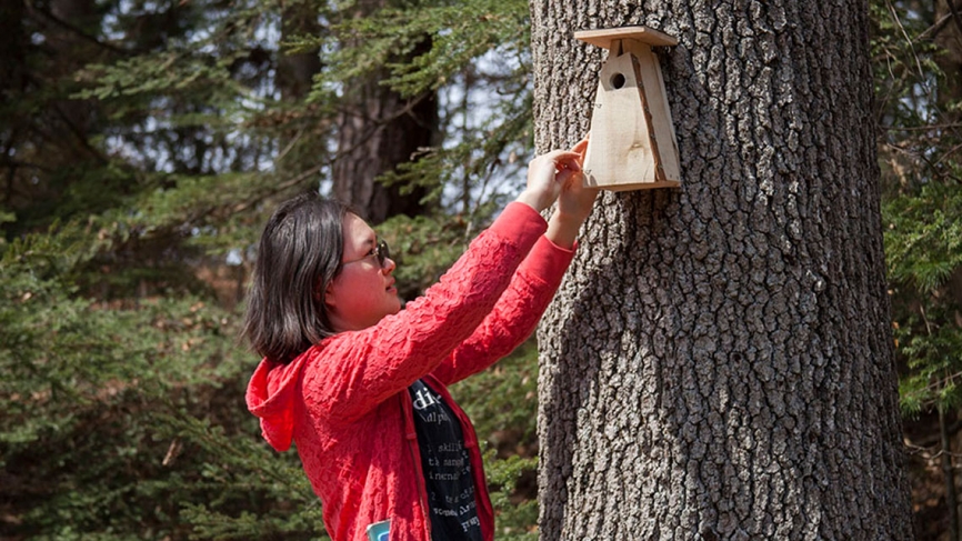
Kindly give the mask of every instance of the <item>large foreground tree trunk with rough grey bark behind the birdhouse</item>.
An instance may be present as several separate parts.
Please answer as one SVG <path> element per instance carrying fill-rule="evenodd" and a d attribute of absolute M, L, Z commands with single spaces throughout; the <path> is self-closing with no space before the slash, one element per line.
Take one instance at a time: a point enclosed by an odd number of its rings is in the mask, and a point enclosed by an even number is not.
<path fill-rule="evenodd" d="M 539 330 L 540 531 L 911 539 L 862 2 L 532 1 L 535 144 L 647 24 L 682 187 L 605 192 Z M 574 118 L 574 120 L 572 120 Z"/>

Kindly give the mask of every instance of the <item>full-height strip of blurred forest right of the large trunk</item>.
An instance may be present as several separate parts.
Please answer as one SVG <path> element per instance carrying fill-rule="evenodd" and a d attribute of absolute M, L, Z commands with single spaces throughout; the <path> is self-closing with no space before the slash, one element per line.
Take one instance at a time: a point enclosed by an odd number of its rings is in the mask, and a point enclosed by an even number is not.
<path fill-rule="evenodd" d="M 892 325 L 919 539 L 960 539 L 962 7 L 872 2 Z"/>

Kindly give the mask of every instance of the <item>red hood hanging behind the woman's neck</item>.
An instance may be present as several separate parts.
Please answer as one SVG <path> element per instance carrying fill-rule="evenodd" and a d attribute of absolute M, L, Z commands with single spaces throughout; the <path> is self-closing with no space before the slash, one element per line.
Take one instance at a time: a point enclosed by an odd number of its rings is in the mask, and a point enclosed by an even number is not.
<path fill-rule="evenodd" d="M 294 397 L 305 357 L 288 364 L 264 359 L 248 383 L 248 410 L 260 419 L 261 434 L 278 451 L 290 449 L 293 440 Z"/>

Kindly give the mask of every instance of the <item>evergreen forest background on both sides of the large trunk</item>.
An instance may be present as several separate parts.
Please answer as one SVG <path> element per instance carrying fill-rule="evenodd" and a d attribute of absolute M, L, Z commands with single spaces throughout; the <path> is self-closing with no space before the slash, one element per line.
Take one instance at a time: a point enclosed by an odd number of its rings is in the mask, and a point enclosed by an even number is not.
<path fill-rule="evenodd" d="M 949 539 L 962 16 L 869 8 L 916 533 Z M 0 539 L 324 539 L 243 405 L 260 229 L 295 193 L 350 200 L 415 297 L 523 186 L 529 23 L 519 0 L 0 3 Z M 538 537 L 537 371 L 531 341 L 453 389 L 499 539 Z"/>

